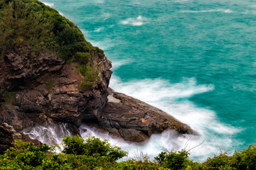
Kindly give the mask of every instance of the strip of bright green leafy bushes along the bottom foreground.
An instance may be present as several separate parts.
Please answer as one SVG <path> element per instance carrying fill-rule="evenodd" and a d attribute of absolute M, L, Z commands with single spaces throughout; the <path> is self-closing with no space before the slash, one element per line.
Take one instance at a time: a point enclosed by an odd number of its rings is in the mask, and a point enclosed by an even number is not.
<path fill-rule="evenodd" d="M 58 146 L 57 146 L 58 147 Z M 161 152 L 154 162 L 144 155 L 140 160 L 129 159 L 117 162 L 127 156 L 119 147 L 112 147 L 107 140 L 80 136 L 63 139 L 61 153 L 55 147 L 34 146 L 31 142 L 16 140 L 14 147 L 0 155 L 0 169 L 241 169 L 255 170 L 256 145 L 251 145 L 233 156 L 219 154 L 198 163 L 188 159 L 188 152 Z"/>

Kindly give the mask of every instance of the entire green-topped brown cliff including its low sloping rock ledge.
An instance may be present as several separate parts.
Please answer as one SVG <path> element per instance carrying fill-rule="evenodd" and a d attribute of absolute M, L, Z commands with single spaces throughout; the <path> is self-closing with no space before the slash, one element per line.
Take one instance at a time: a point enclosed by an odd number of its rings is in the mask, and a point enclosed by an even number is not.
<path fill-rule="evenodd" d="M 73 134 L 87 122 L 137 142 L 167 128 L 193 133 L 167 113 L 108 89 L 111 62 L 58 11 L 36 0 L 5 0 L 0 17 L 1 148 L 28 140 L 24 129 L 60 122 Z"/>

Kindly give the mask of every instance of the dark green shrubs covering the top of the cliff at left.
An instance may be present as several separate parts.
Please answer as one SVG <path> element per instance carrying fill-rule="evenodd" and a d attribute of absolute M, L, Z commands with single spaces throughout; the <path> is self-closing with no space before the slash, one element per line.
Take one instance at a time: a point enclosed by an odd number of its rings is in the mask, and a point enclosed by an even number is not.
<path fill-rule="evenodd" d="M 85 40 L 74 23 L 55 9 L 38 0 L 1 0 L 0 60 L 11 53 L 23 57 L 27 67 L 37 56 L 55 56 L 68 64 L 80 63 L 90 74 L 82 72 L 85 77 L 82 91 L 100 79 L 93 63 L 104 56 L 102 50 Z"/>

